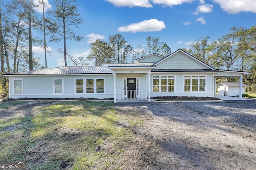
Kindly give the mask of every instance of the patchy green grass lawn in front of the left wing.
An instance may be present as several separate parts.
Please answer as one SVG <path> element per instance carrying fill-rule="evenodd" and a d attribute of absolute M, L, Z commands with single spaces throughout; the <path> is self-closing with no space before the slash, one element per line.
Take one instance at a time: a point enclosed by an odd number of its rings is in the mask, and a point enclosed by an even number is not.
<path fill-rule="evenodd" d="M 0 107 L 17 104 L 23 103 Z M 26 161 L 33 170 L 129 168 L 122 160 L 134 143 L 133 128 L 143 126 L 136 113 L 117 113 L 110 102 L 84 101 L 58 102 L 37 111 L 0 121 L 0 161 Z"/>

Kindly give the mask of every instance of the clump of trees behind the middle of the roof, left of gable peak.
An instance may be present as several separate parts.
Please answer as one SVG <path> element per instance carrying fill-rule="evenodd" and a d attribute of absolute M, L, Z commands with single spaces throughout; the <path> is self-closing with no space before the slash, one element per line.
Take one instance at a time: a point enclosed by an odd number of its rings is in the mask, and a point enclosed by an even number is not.
<path fill-rule="evenodd" d="M 148 36 L 146 41 L 146 48 L 138 45 L 134 49 L 120 34 L 109 36 L 108 42 L 96 39 L 90 44 L 90 54 L 87 59 L 97 66 L 104 63 L 133 63 L 136 59 L 152 53 L 164 57 L 171 54 L 171 47 L 160 42 L 159 37 Z"/>

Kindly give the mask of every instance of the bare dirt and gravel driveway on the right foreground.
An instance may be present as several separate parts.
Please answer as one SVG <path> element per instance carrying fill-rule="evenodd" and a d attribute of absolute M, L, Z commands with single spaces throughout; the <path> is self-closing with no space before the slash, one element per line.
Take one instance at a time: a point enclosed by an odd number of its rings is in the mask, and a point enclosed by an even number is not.
<path fill-rule="evenodd" d="M 144 115 L 137 136 L 161 147 L 149 169 L 256 169 L 256 101 L 120 103 L 116 109 Z"/>

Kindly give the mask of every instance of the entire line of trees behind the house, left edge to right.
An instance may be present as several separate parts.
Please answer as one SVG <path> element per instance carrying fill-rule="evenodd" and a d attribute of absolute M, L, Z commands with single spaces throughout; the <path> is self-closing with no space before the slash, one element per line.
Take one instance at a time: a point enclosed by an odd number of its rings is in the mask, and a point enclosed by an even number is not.
<path fill-rule="evenodd" d="M 80 17 L 76 0 L 54 0 L 51 8 L 45 0 L 0 0 L 0 66 L 1 72 L 17 72 L 47 68 L 47 47 L 49 42 L 63 42 L 58 52 L 74 65 L 94 65 L 104 63 L 131 63 L 136 59 L 157 53 L 164 57 L 170 55 L 171 48 L 159 37 L 146 37 L 146 45 L 136 48 L 120 34 L 109 36 L 108 42 L 97 39 L 90 44 L 88 57 L 75 59 L 68 53 L 67 41 L 80 41 L 74 27 L 78 27 Z M 41 13 L 36 9 L 42 10 Z M 36 37 L 34 32 L 42 33 L 44 39 Z M 194 57 L 216 69 L 249 71 L 244 82 L 256 89 L 256 26 L 250 28 L 232 27 L 229 32 L 216 41 L 210 37 L 200 37 L 189 48 L 183 48 Z M 69 42 L 69 41 L 68 41 Z M 45 64 L 33 57 L 32 46 L 42 47 Z M 2 80 L 3 78 L 1 78 Z"/>

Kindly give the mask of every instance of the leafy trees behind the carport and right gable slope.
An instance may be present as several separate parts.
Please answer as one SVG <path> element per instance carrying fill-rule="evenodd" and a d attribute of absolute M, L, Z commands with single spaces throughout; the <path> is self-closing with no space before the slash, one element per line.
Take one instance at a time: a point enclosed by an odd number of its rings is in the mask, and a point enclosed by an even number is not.
<path fill-rule="evenodd" d="M 256 26 L 248 29 L 232 27 L 229 33 L 216 41 L 200 37 L 184 51 L 216 69 L 250 72 L 243 76 L 243 82 L 256 92 Z M 226 78 L 227 82 L 238 82 L 237 77 Z"/>

